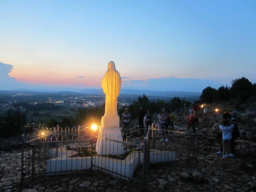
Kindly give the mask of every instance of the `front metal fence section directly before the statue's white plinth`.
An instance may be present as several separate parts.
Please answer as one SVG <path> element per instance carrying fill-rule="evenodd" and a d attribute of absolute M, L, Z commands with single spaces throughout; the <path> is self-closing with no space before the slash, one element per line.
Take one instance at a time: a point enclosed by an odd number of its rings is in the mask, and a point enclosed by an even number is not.
<path fill-rule="evenodd" d="M 94 137 L 97 138 L 96 151 L 99 153 L 99 156 L 93 159 L 94 170 L 100 170 L 116 178 L 135 179 L 133 175 L 139 170 L 143 152 L 140 139 L 136 138 L 135 143 L 132 143 L 129 136 L 123 141 L 122 135 L 114 138 L 113 134 L 106 133 L 103 133 L 102 137 Z"/>

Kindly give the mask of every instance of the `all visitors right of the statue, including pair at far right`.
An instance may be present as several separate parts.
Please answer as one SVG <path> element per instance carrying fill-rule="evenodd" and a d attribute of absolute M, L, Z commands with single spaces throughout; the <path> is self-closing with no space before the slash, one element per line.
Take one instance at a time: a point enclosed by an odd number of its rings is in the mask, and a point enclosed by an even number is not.
<path fill-rule="evenodd" d="M 198 126 L 199 119 L 197 117 L 197 104 L 193 104 L 192 108 L 189 106 L 190 115 L 187 117 L 188 131 L 190 128 L 193 129 L 194 133 L 196 132 L 196 127 Z M 130 130 L 127 127 L 131 123 L 131 113 L 129 109 L 125 108 L 125 112 L 122 113 L 121 124 L 124 126 L 124 138 L 130 135 Z M 156 115 L 155 119 L 149 109 L 144 112 L 143 108 L 139 108 L 137 116 L 137 124 L 141 127 L 141 134 L 144 135 L 144 128 L 148 128 L 152 125 L 154 121 L 158 123 L 160 128 L 168 129 L 169 126 L 173 127 L 175 123 L 175 115 L 170 110 L 166 111 L 166 108 L 159 110 L 159 113 Z M 225 160 L 227 157 L 234 157 L 235 150 L 235 140 L 240 136 L 240 131 L 238 125 L 236 124 L 236 119 L 232 118 L 230 113 L 224 112 L 222 115 L 222 120 L 218 122 L 221 133 L 218 134 L 218 137 L 222 138 L 220 144 L 220 151 L 216 154 L 222 155 L 221 160 Z M 166 139 L 168 142 L 168 139 Z"/>

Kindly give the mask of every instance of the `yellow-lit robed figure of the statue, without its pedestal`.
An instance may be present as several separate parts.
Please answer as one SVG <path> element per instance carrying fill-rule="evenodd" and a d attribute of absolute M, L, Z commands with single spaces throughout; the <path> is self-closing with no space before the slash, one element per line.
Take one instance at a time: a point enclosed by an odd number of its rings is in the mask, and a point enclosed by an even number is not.
<path fill-rule="evenodd" d="M 122 80 L 119 72 L 115 69 L 115 63 L 108 63 L 108 71 L 106 71 L 101 86 L 106 94 L 106 107 L 104 116 L 118 115 L 117 114 L 117 96 L 120 93 Z"/>

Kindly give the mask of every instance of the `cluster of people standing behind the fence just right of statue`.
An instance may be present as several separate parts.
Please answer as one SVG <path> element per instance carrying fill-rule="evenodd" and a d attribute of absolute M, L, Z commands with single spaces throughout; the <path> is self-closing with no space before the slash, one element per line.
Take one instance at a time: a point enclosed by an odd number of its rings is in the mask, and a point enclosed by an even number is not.
<path fill-rule="evenodd" d="M 125 108 L 125 112 L 122 113 L 121 125 L 124 127 L 124 138 L 130 135 L 130 130 L 127 129 L 131 123 L 131 113 L 129 113 L 129 109 Z M 137 124 L 141 127 L 141 134 L 144 135 L 144 128 L 148 128 L 152 125 L 152 123 L 156 121 L 159 127 L 161 128 L 164 125 L 164 129 L 168 129 L 169 126 L 174 126 L 175 115 L 170 111 L 166 110 L 166 108 L 162 108 L 159 110 L 159 113 L 156 115 L 154 119 L 154 115 L 151 113 L 149 109 L 144 112 L 143 108 L 139 108 L 138 116 L 137 116 Z"/>

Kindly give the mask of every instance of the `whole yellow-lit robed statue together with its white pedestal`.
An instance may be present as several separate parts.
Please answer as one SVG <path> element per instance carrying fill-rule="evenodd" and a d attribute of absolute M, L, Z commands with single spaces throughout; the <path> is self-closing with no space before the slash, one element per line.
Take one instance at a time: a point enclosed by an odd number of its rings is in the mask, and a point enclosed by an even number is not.
<path fill-rule="evenodd" d="M 108 63 L 108 71 L 106 71 L 101 86 L 106 94 L 105 114 L 101 118 L 101 126 L 99 127 L 98 136 L 122 141 L 122 133 L 119 127 L 120 118 L 117 114 L 117 96 L 120 93 L 122 80 L 119 72 L 115 69 L 115 63 Z M 122 143 L 110 142 L 98 138 L 96 143 L 96 152 L 102 154 L 123 154 Z"/>

